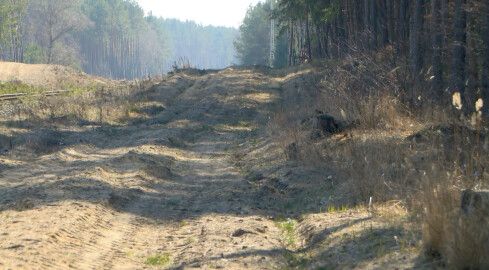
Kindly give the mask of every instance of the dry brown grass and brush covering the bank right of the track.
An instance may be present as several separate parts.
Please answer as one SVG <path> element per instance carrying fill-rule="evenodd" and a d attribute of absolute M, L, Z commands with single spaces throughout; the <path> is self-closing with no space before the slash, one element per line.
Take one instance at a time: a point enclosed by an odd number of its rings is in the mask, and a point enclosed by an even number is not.
<path fill-rule="evenodd" d="M 302 166 L 336 172 L 335 203 L 395 200 L 419 225 L 428 258 L 452 269 L 487 269 L 489 218 L 460 207 L 462 190 L 489 187 L 487 130 L 480 118 L 470 121 L 452 109 L 413 112 L 403 75 L 393 69 L 366 57 L 330 64 L 320 83 L 303 86 L 321 89 L 317 95 L 283 95 L 299 104 L 285 100 L 270 130 L 282 149 L 295 143 Z M 311 140 L 314 109 L 345 120 L 350 129 Z"/>

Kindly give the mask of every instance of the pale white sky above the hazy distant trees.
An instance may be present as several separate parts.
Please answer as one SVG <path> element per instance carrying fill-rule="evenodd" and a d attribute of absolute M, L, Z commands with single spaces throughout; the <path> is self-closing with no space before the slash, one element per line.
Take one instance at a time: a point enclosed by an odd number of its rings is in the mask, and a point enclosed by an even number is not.
<path fill-rule="evenodd" d="M 192 20 L 202 25 L 238 28 L 250 4 L 259 0 L 138 0 L 146 13 L 163 18 Z"/>

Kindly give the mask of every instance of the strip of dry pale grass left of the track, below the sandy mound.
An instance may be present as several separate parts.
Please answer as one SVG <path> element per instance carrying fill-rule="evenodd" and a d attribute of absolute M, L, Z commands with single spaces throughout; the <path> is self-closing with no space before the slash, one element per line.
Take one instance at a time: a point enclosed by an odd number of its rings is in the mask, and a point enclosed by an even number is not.
<path fill-rule="evenodd" d="M 29 124 L 117 124 L 124 123 L 134 112 L 135 95 L 154 84 L 156 79 L 105 86 L 71 87 L 58 96 L 26 96 L 0 104 L 4 120 Z"/>

